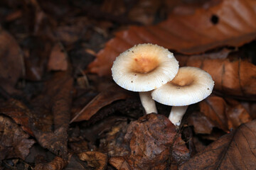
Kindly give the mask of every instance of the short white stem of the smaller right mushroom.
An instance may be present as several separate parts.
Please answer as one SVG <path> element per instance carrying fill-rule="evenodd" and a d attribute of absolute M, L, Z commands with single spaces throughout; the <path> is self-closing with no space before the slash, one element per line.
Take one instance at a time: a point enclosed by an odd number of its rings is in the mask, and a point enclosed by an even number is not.
<path fill-rule="evenodd" d="M 183 115 L 186 113 L 188 106 L 172 106 L 169 120 L 176 126 L 181 125 Z"/>

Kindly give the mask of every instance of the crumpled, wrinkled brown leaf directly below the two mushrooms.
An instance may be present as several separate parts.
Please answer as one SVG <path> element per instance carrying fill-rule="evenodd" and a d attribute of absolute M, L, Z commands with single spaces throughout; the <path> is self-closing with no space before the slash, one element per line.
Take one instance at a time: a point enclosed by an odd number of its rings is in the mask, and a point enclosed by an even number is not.
<path fill-rule="evenodd" d="M 181 135 L 164 115 L 148 114 L 132 122 L 124 140 L 129 145 L 129 155 L 111 157 L 109 162 L 117 169 L 166 169 L 170 157 L 171 164 L 189 157 Z"/>

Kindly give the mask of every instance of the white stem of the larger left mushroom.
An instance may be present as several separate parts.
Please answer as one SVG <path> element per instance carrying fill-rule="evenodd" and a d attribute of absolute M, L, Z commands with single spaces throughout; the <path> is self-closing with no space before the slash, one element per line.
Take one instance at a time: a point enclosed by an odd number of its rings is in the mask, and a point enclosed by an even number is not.
<path fill-rule="evenodd" d="M 142 101 L 142 106 L 146 111 L 146 114 L 157 113 L 156 103 L 151 97 L 151 91 L 139 92 L 139 98 Z"/>

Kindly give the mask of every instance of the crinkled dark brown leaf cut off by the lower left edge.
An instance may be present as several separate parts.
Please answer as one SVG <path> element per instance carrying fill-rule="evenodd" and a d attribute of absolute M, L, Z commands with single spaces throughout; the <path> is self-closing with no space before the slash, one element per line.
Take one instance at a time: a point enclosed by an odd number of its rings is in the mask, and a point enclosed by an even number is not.
<path fill-rule="evenodd" d="M 0 115 L 0 162 L 14 157 L 25 159 L 29 148 L 35 143 L 28 137 L 13 120 Z"/>

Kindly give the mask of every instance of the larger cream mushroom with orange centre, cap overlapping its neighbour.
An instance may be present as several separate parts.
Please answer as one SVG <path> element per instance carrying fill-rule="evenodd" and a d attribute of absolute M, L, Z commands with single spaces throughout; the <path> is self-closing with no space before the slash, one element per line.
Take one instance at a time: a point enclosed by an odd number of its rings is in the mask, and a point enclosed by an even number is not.
<path fill-rule="evenodd" d="M 112 77 L 119 86 L 139 92 L 146 114 L 157 113 L 149 91 L 174 79 L 178 72 L 178 61 L 164 47 L 139 44 L 122 52 L 111 70 Z"/>

